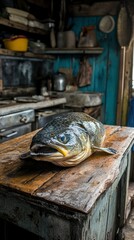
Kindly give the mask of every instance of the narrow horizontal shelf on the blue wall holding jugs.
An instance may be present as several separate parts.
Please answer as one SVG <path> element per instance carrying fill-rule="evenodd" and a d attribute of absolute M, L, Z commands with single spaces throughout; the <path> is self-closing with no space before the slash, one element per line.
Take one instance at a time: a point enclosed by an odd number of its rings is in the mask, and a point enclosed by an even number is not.
<path fill-rule="evenodd" d="M 44 54 L 101 54 L 103 48 L 46 48 Z"/>

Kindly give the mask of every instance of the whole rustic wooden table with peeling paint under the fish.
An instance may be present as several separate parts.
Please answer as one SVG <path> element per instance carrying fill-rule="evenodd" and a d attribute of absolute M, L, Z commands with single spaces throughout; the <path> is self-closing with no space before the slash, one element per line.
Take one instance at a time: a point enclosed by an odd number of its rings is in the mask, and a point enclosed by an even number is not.
<path fill-rule="evenodd" d="M 20 160 L 35 132 L 0 144 L 0 218 L 45 240 L 115 239 L 124 223 L 134 129 L 105 126 L 105 145 L 62 168 Z"/>

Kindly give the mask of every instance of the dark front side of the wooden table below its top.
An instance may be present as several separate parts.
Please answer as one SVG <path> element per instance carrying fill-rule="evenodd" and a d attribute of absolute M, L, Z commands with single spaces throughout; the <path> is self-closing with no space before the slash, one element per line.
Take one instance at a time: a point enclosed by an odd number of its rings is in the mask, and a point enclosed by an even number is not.
<path fill-rule="evenodd" d="M 45 240 L 82 239 L 82 214 L 67 212 L 65 209 L 61 214 L 56 206 L 50 206 L 49 203 L 47 207 L 43 204 L 39 207 L 38 199 L 31 201 L 26 196 L 4 189 L 0 189 L 0 206 L 3 219 Z"/>

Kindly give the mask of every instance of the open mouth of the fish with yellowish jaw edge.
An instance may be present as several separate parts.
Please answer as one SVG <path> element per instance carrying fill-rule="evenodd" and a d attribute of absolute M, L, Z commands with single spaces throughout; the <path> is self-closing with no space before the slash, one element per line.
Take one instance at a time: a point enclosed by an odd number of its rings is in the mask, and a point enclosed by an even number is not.
<path fill-rule="evenodd" d="M 31 147 L 31 155 L 40 155 L 40 156 L 51 156 L 51 155 L 56 155 L 60 154 L 60 156 L 66 157 L 68 154 L 68 151 L 63 148 L 62 146 L 55 146 L 54 144 L 50 145 L 40 145 L 40 144 L 35 144 Z"/>

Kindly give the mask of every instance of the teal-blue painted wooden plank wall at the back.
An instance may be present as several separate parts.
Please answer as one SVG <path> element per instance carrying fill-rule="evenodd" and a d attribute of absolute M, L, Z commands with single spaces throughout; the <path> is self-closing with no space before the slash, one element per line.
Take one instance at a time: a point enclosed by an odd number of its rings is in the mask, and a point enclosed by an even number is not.
<path fill-rule="evenodd" d="M 91 85 L 80 88 L 82 92 L 99 92 L 103 94 L 103 123 L 116 124 L 116 108 L 119 79 L 119 55 L 120 47 L 117 42 L 116 24 L 111 33 L 105 34 L 99 30 L 101 17 L 75 17 L 70 18 L 69 23 L 73 24 L 76 36 L 79 38 L 83 26 L 96 26 L 96 35 L 100 47 L 103 47 L 103 53 L 99 55 L 89 55 L 88 61 L 92 66 Z M 116 16 L 114 17 L 117 22 Z M 76 76 L 79 70 L 80 56 L 64 55 L 58 56 L 54 71 L 60 67 L 73 69 L 73 75 Z"/>

